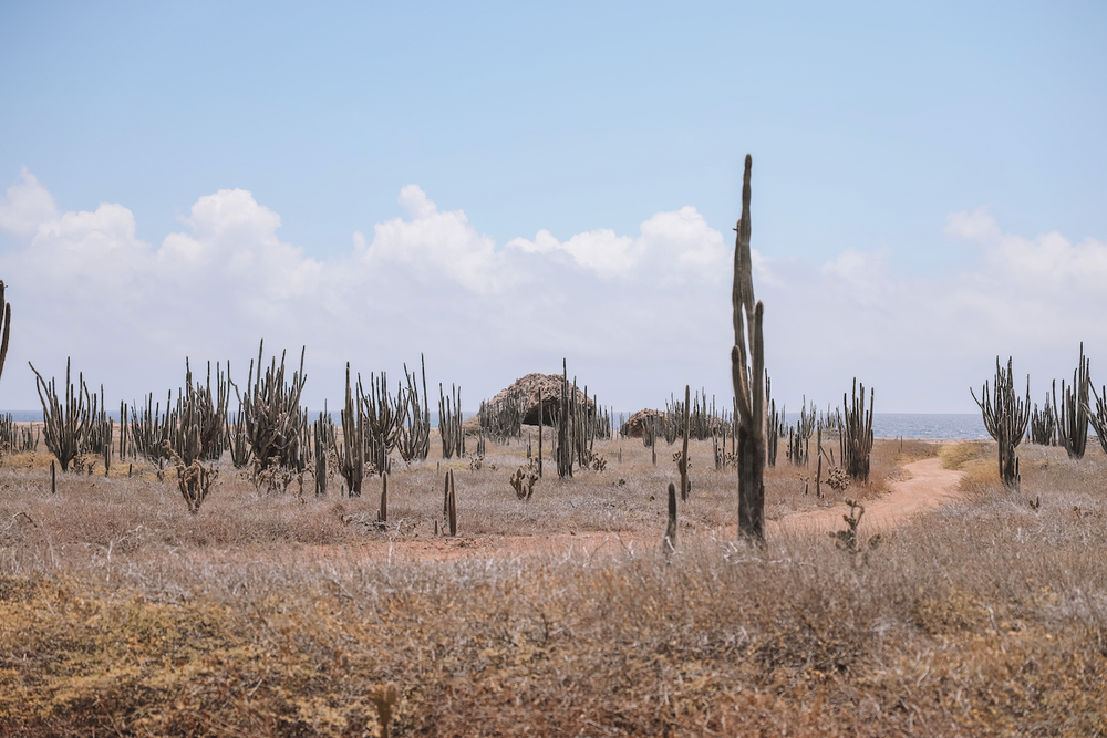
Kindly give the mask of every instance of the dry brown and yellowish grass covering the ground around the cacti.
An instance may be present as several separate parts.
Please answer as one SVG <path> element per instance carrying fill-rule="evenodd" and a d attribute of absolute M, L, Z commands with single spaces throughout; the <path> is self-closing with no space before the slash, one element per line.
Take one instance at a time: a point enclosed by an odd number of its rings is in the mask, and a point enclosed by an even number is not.
<path fill-rule="evenodd" d="M 640 441 L 622 465 L 610 446 L 608 470 L 547 476 L 529 506 L 507 484 L 523 449 L 490 449 L 479 471 L 455 461 L 461 531 L 660 540 L 664 448 L 654 468 Z M 878 441 L 861 491 L 934 450 Z M 8 459 L 0 732 L 379 735 L 372 695 L 394 683 L 392 735 L 1101 734 L 1107 458 L 1020 450 L 1021 492 L 966 482 L 867 563 L 798 533 L 759 550 L 686 539 L 669 563 L 654 549 L 371 559 L 360 542 L 432 536 L 441 461 L 397 469 L 382 532 L 376 481 L 361 500 L 301 501 L 225 470 L 188 516 L 148 470 L 66 475 L 51 496 L 41 455 Z M 682 516 L 733 524 L 733 478 L 710 445 L 692 459 Z M 796 472 L 782 458 L 769 474 L 770 506 L 818 503 Z"/>

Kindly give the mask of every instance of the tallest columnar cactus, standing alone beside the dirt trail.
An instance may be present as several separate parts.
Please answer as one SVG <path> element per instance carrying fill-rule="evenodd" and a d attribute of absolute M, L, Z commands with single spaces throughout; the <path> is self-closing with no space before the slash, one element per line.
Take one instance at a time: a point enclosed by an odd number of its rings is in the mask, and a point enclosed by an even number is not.
<path fill-rule="evenodd" d="M 734 346 L 731 378 L 738 409 L 738 532 L 748 540 L 765 540 L 765 306 L 754 300 L 753 260 L 749 256 L 749 173 L 746 155 L 742 176 L 742 218 L 734 229 Z"/>

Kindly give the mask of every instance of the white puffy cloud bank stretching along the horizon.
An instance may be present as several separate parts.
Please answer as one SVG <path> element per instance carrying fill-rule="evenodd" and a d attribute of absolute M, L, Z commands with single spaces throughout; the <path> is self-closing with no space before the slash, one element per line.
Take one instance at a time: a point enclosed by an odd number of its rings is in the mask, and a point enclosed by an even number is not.
<path fill-rule="evenodd" d="M 28 361 L 50 376 L 72 356 L 111 404 L 179 386 L 185 356 L 194 368 L 229 358 L 245 381 L 261 337 L 267 360 L 307 346 L 313 408 L 341 398 L 346 361 L 395 382 L 421 354 L 428 381 L 459 383 L 466 407 L 527 372 L 559 371 L 562 357 L 619 409 L 655 406 L 685 383 L 730 402 L 733 237 L 694 207 L 654 214 L 638 235 L 541 230 L 499 246 L 416 185 L 399 202 L 405 217 L 317 260 L 281 241 L 280 216 L 242 189 L 200 197 L 153 245 L 123 205 L 63 211 L 22 170 L 0 198 L 14 312 L 0 407 L 38 406 Z M 969 412 L 968 387 L 996 354 L 1044 386 L 1075 366 L 1080 340 L 1097 376 L 1107 245 L 1004 233 L 983 208 L 949 215 L 944 237 L 970 267 L 901 273 L 891 248 L 825 264 L 755 252 L 777 396 L 825 406 L 858 376 L 877 387 L 878 410 Z"/>

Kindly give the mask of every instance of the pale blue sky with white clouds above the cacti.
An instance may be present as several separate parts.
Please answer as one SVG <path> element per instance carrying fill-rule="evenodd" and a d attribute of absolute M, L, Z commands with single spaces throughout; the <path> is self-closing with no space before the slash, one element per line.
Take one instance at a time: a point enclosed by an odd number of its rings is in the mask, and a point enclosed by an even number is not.
<path fill-rule="evenodd" d="M 720 404 L 742 163 L 779 404 L 1107 383 L 1107 6 L 2 3 L 0 408 L 306 347 Z M 432 389 L 437 396 L 437 391 Z"/>

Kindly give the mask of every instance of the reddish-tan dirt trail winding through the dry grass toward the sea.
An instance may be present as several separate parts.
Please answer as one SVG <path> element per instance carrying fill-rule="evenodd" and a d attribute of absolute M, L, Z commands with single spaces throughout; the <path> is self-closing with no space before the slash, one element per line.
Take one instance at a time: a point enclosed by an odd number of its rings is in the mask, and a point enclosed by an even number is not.
<path fill-rule="evenodd" d="M 892 528 L 907 518 L 937 508 L 956 498 L 956 486 L 961 477 L 958 471 L 942 468 L 939 459 L 924 459 L 903 467 L 911 477 L 892 482 L 892 491 L 866 503 L 861 530 L 875 532 Z M 820 531 L 829 532 L 842 527 L 842 514 L 849 508 L 836 505 L 832 508 L 811 510 L 770 520 L 766 534 L 772 538 L 782 532 Z M 722 540 L 735 540 L 736 528 L 700 533 L 714 533 Z M 437 538 L 413 541 L 373 541 L 359 547 L 309 547 L 301 555 L 325 560 L 391 560 L 452 561 L 457 559 L 514 559 L 535 554 L 569 557 L 575 554 L 604 555 L 620 551 L 644 551 L 661 544 L 662 531 L 644 532 L 580 532 L 555 536 L 504 536 L 486 538 Z"/>

